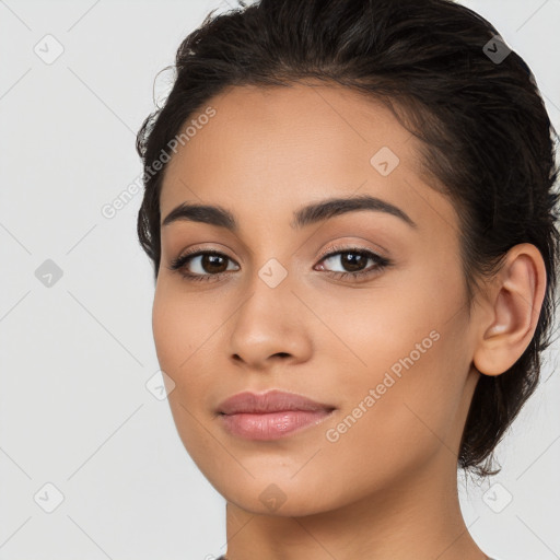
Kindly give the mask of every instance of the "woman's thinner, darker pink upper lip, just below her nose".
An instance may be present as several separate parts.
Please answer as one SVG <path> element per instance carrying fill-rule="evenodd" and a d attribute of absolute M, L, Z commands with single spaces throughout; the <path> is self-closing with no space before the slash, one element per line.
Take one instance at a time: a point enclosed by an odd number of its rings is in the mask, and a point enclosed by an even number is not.
<path fill-rule="evenodd" d="M 218 406 L 222 415 L 279 412 L 282 410 L 334 410 L 335 407 L 316 402 L 302 395 L 272 389 L 256 394 L 243 392 L 226 398 Z"/>

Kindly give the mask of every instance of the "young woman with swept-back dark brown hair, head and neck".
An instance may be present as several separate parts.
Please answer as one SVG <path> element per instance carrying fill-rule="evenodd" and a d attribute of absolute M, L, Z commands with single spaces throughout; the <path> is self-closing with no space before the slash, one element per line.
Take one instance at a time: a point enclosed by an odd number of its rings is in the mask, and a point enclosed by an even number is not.
<path fill-rule="evenodd" d="M 180 45 L 138 136 L 179 436 L 228 560 L 482 560 L 457 468 L 539 378 L 558 266 L 548 115 L 446 0 L 261 0 Z"/>

